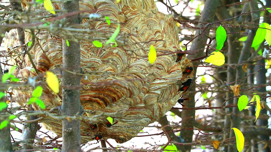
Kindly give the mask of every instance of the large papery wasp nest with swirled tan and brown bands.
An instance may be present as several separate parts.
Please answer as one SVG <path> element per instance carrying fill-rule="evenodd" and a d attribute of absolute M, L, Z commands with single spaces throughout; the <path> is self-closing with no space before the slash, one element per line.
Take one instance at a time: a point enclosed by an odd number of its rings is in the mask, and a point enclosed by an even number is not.
<path fill-rule="evenodd" d="M 61 5 L 54 4 L 54 8 L 61 9 Z M 158 12 L 154 1 L 122 0 L 118 4 L 110 0 L 80 1 L 80 10 L 87 10 L 82 15 L 97 13 L 111 20 L 110 25 L 104 18 L 82 20 L 93 31 L 86 33 L 92 37 L 83 37 L 93 40 L 80 41 L 81 68 L 84 73 L 90 74 L 81 79 L 81 105 L 86 111 L 83 116 L 92 118 L 103 112 L 120 111 L 119 114 L 111 115 L 114 122 L 118 123 L 109 128 L 106 127 L 106 116 L 94 122 L 81 121 L 82 143 L 91 140 L 96 134 L 120 143 L 128 141 L 175 105 L 182 93 L 178 91 L 182 87 L 180 84 L 193 77 L 193 72 L 183 74 L 192 63 L 185 56 L 176 62 L 177 56 L 173 53 L 179 49 L 176 22 L 172 16 Z M 117 47 L 112 47 L 113 43 L 102 48 L 93 45 L 94 40 L 104 44 L 118 23 L 121 30 L 115 39 Z M 25 42 L 31 40 L 29 33 L 25 32 L 25 35 Z M 37 37 L 48 57 L 61 65 L 61 37 L 46 30 L 39 31 Z M 6 43 L 8 51 L 19 46 L 14 31 L 7 33 Z M 148 62 L 150 45 L 157 51 L 157 59 L 152 65 Z M 47 59 L 37 43 L 31 54 L 40 72 L 51 70 L 60 75 L 55 72 L 55 65 Z M 13 61 L 21 60 L 22 57 L 18 57 Z M 35 77 L 37 74 L 31 66 L 26 56 L 18 77 Z M 45 83 L 42 87 L 46 110 L 60 106 L 62 93 L 54 94 Z M 32 90 L 27 88 L 17 91 L 16 102 L 25 104 L 31 93 Z M 61 121 L 46 117 L 42 123 L 56 134 L 62 134 Z M 98 128 L 92 130 L 94 124 Z"/>

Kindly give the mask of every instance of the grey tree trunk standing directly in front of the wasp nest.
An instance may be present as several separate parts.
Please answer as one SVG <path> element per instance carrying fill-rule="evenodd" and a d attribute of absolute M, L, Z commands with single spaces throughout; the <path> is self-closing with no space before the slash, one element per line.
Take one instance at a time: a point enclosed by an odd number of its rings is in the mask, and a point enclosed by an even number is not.
<path fill-rule="evenodd" d="M 79 11 L 78 1 L 68 1 L 63 4 L 68 13 Z M 79 14 L 67 18 L 66 25 L 80 24 Z M 71 37 L 66 37 L 67 40 Z M 63 68 L 80 73 L 80 44 L 79 42 L 63 40 Z M 63 102 L 61 113 L 64 116 L 79 115 L 80 104 L 80 80 L 81 77 L 70 72 L 63 71 Z M 62 151 L 80 151 L 80 120 L 63 120 L 63 147 Z"/>

